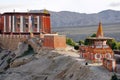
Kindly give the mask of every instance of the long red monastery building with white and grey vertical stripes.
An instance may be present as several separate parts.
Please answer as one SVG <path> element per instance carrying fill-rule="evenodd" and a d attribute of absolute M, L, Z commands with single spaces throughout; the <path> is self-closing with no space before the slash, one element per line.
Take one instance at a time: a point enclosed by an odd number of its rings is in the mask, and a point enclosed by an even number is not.
<path fill-rule="evenodd" d="M 0 16 L 2 33 L 51 33 L 49 13 L 8 12 Z"/>

